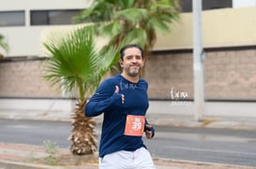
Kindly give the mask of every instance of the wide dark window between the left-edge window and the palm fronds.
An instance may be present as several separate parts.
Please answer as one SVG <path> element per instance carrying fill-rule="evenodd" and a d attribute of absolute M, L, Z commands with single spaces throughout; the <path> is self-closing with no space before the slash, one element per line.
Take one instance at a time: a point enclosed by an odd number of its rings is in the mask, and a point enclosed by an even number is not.
<path fill-rule="evenodd" d="M 72 18 L 80 10 L 32 10 L 30 11 L 31 25 L 71 24 Z"/>

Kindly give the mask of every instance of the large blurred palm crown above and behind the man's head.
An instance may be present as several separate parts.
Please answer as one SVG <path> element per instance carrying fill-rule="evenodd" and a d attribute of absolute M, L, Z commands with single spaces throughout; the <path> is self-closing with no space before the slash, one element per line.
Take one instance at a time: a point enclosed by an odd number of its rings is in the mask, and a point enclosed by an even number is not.
<path fill-rule="evenodd" d="M 149 54 L 157 32 L 170 31 L 170 23 L 177 21 L 178 16 L 178 0 L 95 0 L 74 18 L 74 22 L 96 22 L 98 33 L 110 38 L 109 45 L 137 38 Z"/>

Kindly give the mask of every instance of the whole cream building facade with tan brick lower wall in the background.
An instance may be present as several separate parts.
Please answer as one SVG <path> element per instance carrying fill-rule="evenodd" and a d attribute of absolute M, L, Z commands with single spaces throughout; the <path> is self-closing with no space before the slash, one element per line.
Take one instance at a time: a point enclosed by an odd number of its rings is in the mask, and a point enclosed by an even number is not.
<path fill-rule="evenodd" d="M 225 1 L 221 7 L 209 1 L 212 6 L 204 5 L 205 100 L 256 100 L 256 19 L 251 17 L 256 16 L 256 7 L 253 1 L 243 1 L 244 4 L 236 0 Z M 41 44 L 51 30 L 69 27 L 72 16 L 89 7 L 91 1 L 8 0 L 2 4 L 0 34 L 7 37 L 10 52 L 0 61 L 0 108 L 23 105 L 21 100 L 40 101 L 42 108 L 54 106 L 59 100 L 69 102 L 65 94 L 42 79 Z M 187 6 L 189 9 L 189 3 Z M 153 57 L 146 61 L 145 68 L 151 100 L 193 99 L 192 17 L 191 12 L 183 12 L 180 21 L 171 25 L 170 34 L 158 34 Z M 51 99 L 58 101 L 53 104 L 53 101 L 48 102 Z M 29 105 L 31 107 L 24 108 L 35 108 Z"/>

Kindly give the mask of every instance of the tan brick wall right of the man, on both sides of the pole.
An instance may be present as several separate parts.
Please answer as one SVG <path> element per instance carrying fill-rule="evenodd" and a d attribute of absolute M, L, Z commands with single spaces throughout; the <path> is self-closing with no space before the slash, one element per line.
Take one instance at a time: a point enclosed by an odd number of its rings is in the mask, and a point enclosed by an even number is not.
<path fill-rule="evenodd" d="M 204 62 L 205 98 L 256 99 L 256 49 L 207 49 Z M 193 98 L 191 51 L 158 53 L 146 63 L 150 98 L 172 99 L 174 92 Z"/>

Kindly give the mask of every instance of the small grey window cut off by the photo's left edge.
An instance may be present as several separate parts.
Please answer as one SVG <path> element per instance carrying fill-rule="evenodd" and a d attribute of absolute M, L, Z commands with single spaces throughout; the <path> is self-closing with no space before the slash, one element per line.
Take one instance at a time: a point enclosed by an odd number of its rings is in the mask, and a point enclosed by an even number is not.
<path fill-rule="evenodd" d="M 25 12 L 0 11 L 0 26 L 23 26 L 25 25 Z"/>

